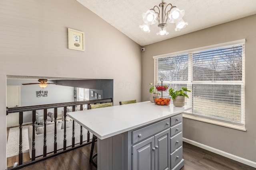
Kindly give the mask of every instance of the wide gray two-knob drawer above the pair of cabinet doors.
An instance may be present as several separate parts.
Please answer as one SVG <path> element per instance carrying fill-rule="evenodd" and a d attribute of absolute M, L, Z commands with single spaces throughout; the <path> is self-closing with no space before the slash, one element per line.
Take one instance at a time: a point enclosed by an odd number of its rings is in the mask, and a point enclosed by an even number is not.
<path fill-rule="evenodd" d="M 168 127 L 170 127 L 170 118 L 142 127 L 136 131 L 132 131 L 132 144 L 146 139 L 147 137 L 150 137 Z"/>

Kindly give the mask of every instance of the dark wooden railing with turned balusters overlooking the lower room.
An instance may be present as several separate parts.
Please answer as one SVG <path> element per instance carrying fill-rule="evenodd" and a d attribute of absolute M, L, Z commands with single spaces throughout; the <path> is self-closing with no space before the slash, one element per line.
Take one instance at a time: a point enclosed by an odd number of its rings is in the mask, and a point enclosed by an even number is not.
<path fill-rule="evenodd" d="M 67 113 L 67 106 L 72 106 L 72 111 L 75 111 L 76 106 L 80 106 L 80 110 L 83 110 L 83 105 L 91 105 L 91 104 L 102 104 L 102 103 L 108 103 L 113 102 L 112 98 L 110 99 L 102 99 L 102 100 L 88 100 L 88 101 L 80 101 L 80 102 L 66 102 L 66 103 L 58 103 L 58 104 L 46 104 L 46 105 L 37 105 L 37 106 L 25 106 L 25 107 L 6 107 L 6 115 L 10 113 L 17 113 L 19 112 L 19 129 L 20 129 L 20 136 L 19 136 L 19 154 L 18 154 L 18 166 L 16 168 L 10 168 L 10 169 L 17 169 L 22 168 L 24 166 L 27 166 L 29 164 L 45 160 L 46 158 L 56 156 L 57 154 L 61 154 L 66 152 L 67 150 L 76 149 L 78 147 L 82 147 L 85 145 L 89 145 L 90 142 L 90 133 L 87 132 L 87 142 L 83 143 L 83 135 L 82 135 L 82 126 L 80 125 L 80 144 L 78 146 L 75 146 L 75 133 L 74 133 L 74 125 L 75 122 L 73 120 L 72 124 L 72 147 L 70 149 L 67 149 L 66 146 L 66 113 Z M 59 107 L 64 107 L 64 139 L 63 139 L 63 150 L 58 150 L 57 153 L 57 109 Z M 46 145 L 46 119 L 47 119 L 47 109 L 54 109 L 54 151 L 53 154 L 50 156 L 47 156 L 47 145 Z M 44 110 L 44 144 L 43 144 L 43 158 L 36 159 L 35 153 L 35 125 L 36 125 L 36 110 Z M 22 124 L 23 124 L 23 112 L 24 111 L 32 111 L 32 126 L 33 126 L 33 132 L 32 132 L 32 158 L 31 162 L 26 162 L 23 164 L 23 153 L 22 153 Z M 8 168 L 9 169 L 9 168 Z"/>

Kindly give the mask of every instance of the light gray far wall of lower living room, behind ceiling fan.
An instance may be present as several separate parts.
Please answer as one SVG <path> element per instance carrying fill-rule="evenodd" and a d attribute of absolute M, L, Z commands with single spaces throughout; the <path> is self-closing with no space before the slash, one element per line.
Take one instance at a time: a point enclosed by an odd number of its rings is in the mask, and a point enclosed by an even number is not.
<path fill-rule="evenodd" d="M 34 106 L 42 104 L 54 104 L 64 102 L 74 102 L 74 87 L 48 85 L 44 90 L 48 91 L 47 97 L 36 97 L 36 91 L 43 90 L 37 84 L 22 85 L 22 83 L 37 83 L 37 80 L 18 80 L 8 79 L 7 86 L 20 86 L 20 105 Z M 55 83 L 48 81 L 49 83 Z M 58 113 L 61 113 L 63 108 L 58 108 Z M 32 112 L 24 112 L 23 123 L 32 122 Z"/>

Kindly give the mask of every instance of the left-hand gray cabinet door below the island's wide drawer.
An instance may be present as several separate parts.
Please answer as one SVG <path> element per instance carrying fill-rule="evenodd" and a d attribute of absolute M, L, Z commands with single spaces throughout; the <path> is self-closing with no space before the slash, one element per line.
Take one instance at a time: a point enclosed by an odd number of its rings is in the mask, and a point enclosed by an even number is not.
<path fill-rule="evenodd" d="M 132 170 L 154 170 L 154 137 L 132 146 Z"/>

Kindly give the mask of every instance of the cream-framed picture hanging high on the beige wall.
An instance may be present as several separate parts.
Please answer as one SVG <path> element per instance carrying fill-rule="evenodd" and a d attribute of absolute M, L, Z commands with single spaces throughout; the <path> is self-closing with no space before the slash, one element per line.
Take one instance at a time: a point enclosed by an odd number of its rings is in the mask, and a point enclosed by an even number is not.
<path fill-rule="evenodd" d="M 84 32 L 68 28 L 68 49 L 84 51 Z"/>

